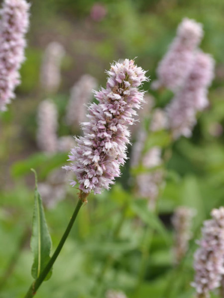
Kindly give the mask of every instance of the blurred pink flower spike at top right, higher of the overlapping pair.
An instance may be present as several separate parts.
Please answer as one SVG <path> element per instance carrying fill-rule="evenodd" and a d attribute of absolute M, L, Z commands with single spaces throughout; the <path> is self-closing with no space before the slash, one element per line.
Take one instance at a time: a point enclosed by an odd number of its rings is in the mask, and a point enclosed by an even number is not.
<path fill-rule="evenodd" d="M 177 29 L 177 36 L 159 63 L 158 80 L 152 87 L 167 87 L 175 91 L 183 85 L 194 65 L 195 50 L 203 37 L 200 23 L 184 18 Z"/>

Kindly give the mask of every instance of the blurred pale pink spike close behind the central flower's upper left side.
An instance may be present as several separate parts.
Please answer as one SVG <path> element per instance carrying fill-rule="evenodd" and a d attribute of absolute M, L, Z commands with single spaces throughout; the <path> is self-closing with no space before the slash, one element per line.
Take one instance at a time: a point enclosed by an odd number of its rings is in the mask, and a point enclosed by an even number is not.
<path fill-rule="evenodd" d="M 84 74 L 72 87 L 66 114 L 69 125 L 77 129 L 85 121 L 86 105 L 91 101 L 96 87 L 97 80 L 89 74 Z"/>

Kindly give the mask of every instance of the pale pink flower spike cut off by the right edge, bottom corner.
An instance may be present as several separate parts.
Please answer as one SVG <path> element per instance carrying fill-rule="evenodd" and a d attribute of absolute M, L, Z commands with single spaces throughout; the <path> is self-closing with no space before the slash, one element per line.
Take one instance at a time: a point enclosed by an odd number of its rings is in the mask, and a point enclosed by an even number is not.
<path fill-rule="evenodd" d="M 210 291 L 221 286 L 224 275 L 224 207 L 214 209 L 212 219 L 202 228 L 200 247 L 195 253 L 195 281 L 198 298 L 209 298 Z"/>

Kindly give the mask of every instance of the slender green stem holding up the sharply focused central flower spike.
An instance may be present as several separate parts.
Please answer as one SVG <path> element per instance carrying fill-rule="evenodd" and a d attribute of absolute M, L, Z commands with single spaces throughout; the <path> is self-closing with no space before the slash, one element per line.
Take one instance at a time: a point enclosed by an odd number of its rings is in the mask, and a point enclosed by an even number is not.
<path fill-rule="evenodd" d="M 54 262 L 56 261 L 64 243 L 65 243 L 65 240 L 67 239 L 70 231 L 71 231 L 71 228 L 77 218 L 77 215 L 80 211 L 80 208 L 82 207 L 83 203 L 85 202 L 85 199 L 86 199 L 86 194 L 84 193 L 81 193 L 80 195 L 80 199 L 76 205 L 76 208 L 75 208 L 75 211 L 71 217 L 71 220 L 54 252 L 54 254 L 52 255 L 52 257 L 50 258 L 48 264 L 46 265 L 46 267 L 43 269 L 43 271 L 40 273 L 39 277 L 32 283 L 32 285 L 30 286 L 25 298 L 31 298 L 33 297 L 35 294 L 36 294 L 36 291 L 38 290 L 38 288 L 40 287 L 40 285 L 42 284 L 42 282 L 44 281 L 45 277 L 48 275 L 49 271 L 51 270 Z"/>

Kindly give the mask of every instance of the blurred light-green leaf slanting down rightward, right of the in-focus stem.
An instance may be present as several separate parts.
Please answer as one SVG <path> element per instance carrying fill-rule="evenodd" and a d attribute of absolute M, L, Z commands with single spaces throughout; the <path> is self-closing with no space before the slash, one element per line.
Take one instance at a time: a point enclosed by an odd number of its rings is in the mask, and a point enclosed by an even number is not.
<path fill-rule="evenodd" d="M 153 212 L 151 212 L 148 209 L 145 200 L 134 201 L 131 205 L 131 209 L 135 212 L 136 215 L 140 217 L 140 219 L 145 224 L 148 224 L 151 228 L 155 229 L 158 233 L 160 233 L 168 245 L 171 243 L 171 237 L 167 232 L 165 226 L 160 221 L 158 216 L 156 216 Z"/>

